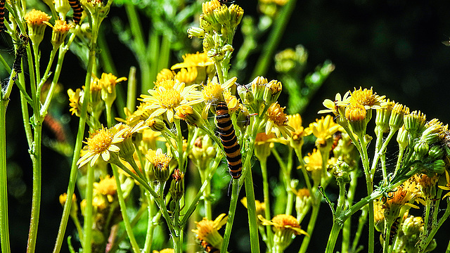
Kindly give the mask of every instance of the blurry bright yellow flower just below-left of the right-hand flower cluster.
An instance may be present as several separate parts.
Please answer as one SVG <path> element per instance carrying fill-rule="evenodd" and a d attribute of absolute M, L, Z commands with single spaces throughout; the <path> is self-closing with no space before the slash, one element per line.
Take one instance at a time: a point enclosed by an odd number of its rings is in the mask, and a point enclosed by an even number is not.
<path fill-rule="evenodd" d="M 311 131 L 316 136 L 316 146 L 324 147 L 333 134 L 340 129 L 340 126 L 333 121 L 333 117 L 326 115 L 321 119 L 316 119 L 316 122 L 309 124 L 309 128 L 304 131 Z"/>

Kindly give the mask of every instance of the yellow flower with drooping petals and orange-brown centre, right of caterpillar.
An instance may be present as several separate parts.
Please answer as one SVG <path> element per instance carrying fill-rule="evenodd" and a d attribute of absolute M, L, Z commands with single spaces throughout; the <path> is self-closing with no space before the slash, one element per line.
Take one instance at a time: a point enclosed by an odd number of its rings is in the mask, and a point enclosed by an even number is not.
<path fill-rule="evenodd" d="M 285 137 L 291 136 L 291 131 L 294 131 L 292 126 L 288 125 L 288 116 L 284 113 L 285 108 L 281 108 L 278 102 L 275 102 L 267 109 L 267 122 L 265 132 L 269 134 L 275 133 L 277 137 L 280 135 Z"/>

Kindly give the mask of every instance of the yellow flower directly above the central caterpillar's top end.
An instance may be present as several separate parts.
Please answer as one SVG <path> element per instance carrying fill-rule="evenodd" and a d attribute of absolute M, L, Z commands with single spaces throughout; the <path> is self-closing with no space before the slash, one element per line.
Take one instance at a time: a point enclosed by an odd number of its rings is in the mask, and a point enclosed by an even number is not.
<path fill-rule="evenodd" d="M 210 110 L 211 105 L 215 105 L 219 101 L 224 100 L 224 91 L 233 86 L 233 84 L 236 83 L 236 80 L 237 78 L 233 77 L 224 82 L 224 84 L 219 84 L 217 77 L 214 77 L 212 80 L 208 79 L 206 85 L 203 84 L 202 95 L 203 100 L 205 100 L 206 103 L 206 106 L 202 112 L 203 119 L 207 118 L 207 113 Z"/>

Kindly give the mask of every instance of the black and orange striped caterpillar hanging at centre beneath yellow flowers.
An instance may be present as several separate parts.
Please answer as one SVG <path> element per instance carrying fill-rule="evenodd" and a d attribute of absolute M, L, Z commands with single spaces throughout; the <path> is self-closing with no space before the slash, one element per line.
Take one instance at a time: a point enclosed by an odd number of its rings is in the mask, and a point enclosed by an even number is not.
<path fill-rule="evenodd" d="M 242 174 L 242 155 L 240 155 L 240 145 L 225 102 L 219 102 L 217 105 L 216 120 L 230 174 L 233 179 L 239 179 Z"/>

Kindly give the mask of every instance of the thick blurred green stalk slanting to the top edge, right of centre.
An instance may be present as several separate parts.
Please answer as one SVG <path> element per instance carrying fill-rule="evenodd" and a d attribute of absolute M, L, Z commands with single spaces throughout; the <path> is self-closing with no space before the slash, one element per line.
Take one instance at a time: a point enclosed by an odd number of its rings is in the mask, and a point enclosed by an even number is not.
<path fill-rule="evenodd" d="M 267 42 L 264 45 L 264 50 L 262 51 L 262 55 L 259 56 L 257 65 L 255 67 L 255 70 L 253 70 L 251 78 L 264 76 L 264 74 L 266 74 L 267 70 L 269 69 L 271 60 L 273 60 L 274 52 L 281 41 L 281 37 L 290 20 L 290 15 L 295 9 L 296 2 L 297 0 L 288 1 L 288 4 L 285 4 L 283 10 L 278 13 L 279 18 L 274 21 L 274 29 L 269 34 L 269 38 L 267 38 Z"/>

